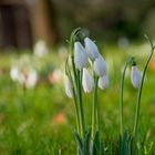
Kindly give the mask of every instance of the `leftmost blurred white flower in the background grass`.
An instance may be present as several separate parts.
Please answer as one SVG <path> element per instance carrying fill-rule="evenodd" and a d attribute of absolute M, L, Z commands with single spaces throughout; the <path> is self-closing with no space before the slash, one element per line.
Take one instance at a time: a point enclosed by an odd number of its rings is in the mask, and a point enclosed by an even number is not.
<path fill-rule="evenodd" d="M 10 69 L 10 78 L 12 81 L 19 80 L 19 68 L 18 65 L 12 65 Z"/>

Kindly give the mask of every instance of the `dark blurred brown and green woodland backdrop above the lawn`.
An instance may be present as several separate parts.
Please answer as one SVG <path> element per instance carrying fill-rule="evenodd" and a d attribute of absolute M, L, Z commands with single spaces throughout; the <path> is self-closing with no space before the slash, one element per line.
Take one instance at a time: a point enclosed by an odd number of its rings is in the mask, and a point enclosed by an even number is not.
<path fill-rule="evenodd" d="M 154 0 L 1 0 L 0 48 L 64 43 L 82 27 L 97 39 L 138 40 L 155 34 Z"/>

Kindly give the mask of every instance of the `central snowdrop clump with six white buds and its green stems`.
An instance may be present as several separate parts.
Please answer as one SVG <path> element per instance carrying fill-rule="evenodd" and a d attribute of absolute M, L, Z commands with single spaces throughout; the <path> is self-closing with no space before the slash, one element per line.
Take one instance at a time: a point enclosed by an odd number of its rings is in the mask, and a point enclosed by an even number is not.
<path fill-rule="evenodd" d="M 82 34 L 82 38 L 80 38 Z M 81 29 L 75 29 L 70 38 L 70 55 L 65 63 L 64 89 L 69 97 L 74 100 L 75 117 L 76 117 L 76 136 L 83 141 L 85 146 L 91 146 L 91 152 L 97 149 L 100 154 L 100 145 L 96 146 L 96 135 L 100 133 L 100 108 L 97 102 L 97 87 L 105 90 L 108 87 L 108 76 L 106 62 L 99 52 L 97 45 L 90 38 L 83 35 Z M 82 91 L 83 90 L 83 91 Z M 92 100 L 92 127 L 86 131 L 85 113 L 83 108 L 83 93 L 91 93 Z M 84 142 L 86 132 L 90 141 Z M 86 137 L 87 138 L 87 137 Z M 92 140 L 92 142 L 91 142 Z M 97 144 L 100 137 L 97 137 Z M 92 144 L 90 144 L 92 143 Z M 81 146 L 79 146 L 80 148 Z M 83 146 L 82 146 L 83 147 Z M 80 148 L 83 149 L 83 148 Z M 87 149 L 87 154 L 89 154 Z M 85 154 L 85 151 L 84 153 Z"/>

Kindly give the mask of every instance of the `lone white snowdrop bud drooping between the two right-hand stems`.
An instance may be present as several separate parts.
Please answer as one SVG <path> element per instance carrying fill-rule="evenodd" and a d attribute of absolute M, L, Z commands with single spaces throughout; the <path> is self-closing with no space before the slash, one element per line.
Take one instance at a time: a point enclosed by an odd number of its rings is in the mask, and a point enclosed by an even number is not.
<path fill-rule="evenodd" d="M 135 89 L 140 89 L 142 82 L 142 73 L 136 65 L 132 66 L 131 81 Z"/>

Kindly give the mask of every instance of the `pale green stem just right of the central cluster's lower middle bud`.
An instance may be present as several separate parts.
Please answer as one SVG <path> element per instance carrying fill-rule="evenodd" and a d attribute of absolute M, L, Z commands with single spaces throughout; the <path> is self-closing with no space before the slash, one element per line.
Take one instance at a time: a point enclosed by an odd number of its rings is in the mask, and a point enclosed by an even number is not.
<path fill-rule="evenodd" d="M 95 81 L 95 89 L 94 89 L 94 94 L 93 94 L 93 106 L 92 106 L 92 138 L 95 136 L 95 125 L 96 125 L 96 102 L 97 102 L 97 81 L 99 78 L 94 76 Z"/>

